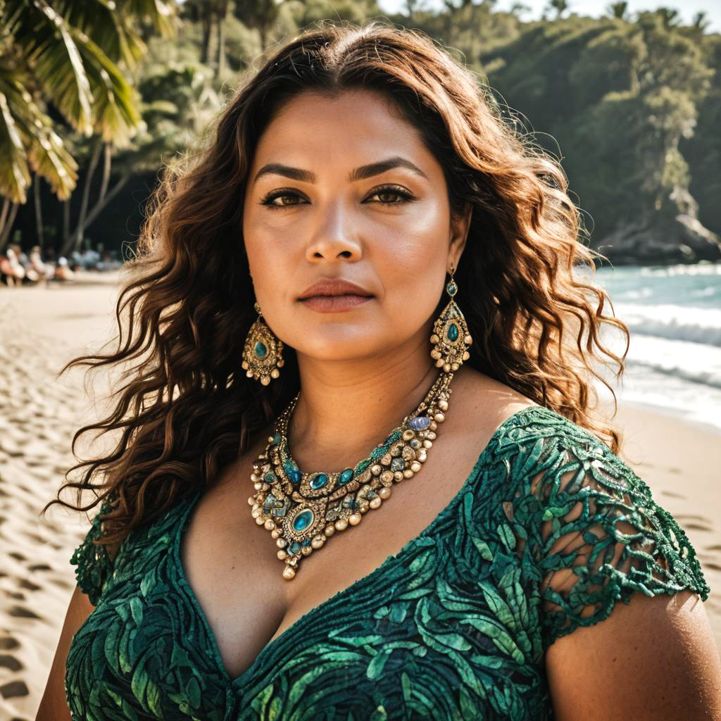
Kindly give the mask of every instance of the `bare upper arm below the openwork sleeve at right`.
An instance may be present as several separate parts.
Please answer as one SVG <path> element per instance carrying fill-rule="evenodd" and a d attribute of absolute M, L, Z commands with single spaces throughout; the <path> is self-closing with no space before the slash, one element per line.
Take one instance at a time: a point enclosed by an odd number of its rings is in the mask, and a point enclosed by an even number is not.
<path fill-rule="evenodd" d="M 721 659 L 696 593 L 636 593 L 546 652 L 559 721 L 721 720 Z"/>

